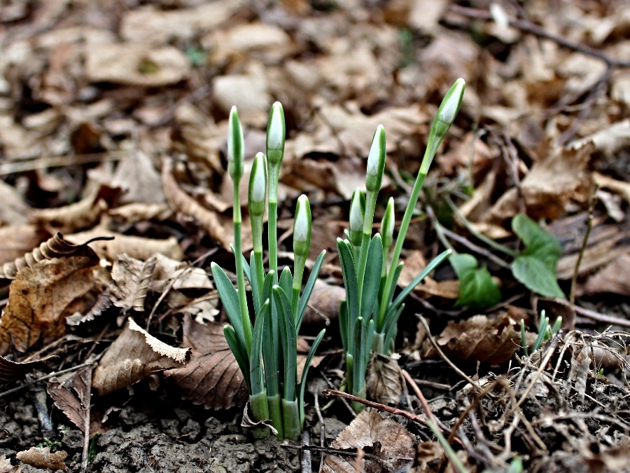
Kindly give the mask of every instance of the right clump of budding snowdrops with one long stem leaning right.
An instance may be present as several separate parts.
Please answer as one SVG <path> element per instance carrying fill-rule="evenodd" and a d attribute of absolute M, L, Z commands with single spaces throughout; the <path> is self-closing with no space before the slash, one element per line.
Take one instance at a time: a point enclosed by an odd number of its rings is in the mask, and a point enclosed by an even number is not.
<path fill-rule="evenodd" d="M 409 222 L 437 148 L 461 107 L 464 88 L 463 79 L 457 79 L 437 110 L 391 256 L 389 254 L 393 243 L 395 220 L 393 199 L 387 204 L 380 225 L 381 232 L 372 236 L 374 208 L 385 169 L 385 129 L 382 125 L 374 132 L 370 153 L 367 156 L 365 192 L 356 189 L 351 199 L 347 238 L 337 239 L 337 251 L 346 289 L 346 300 L 339 309 L 339 329 L 346 357 L 349 392 L 358 397 L 365 397 L 365 371 L 370 349 L 383 355 L 391 352 L 398 318 L 405 307 L 405 298 L 451 253 L 447 250 L 438 255 L 395 299 L 393 298 L 402 271 L 402 262 L 399 260 Z M 354 408 L 359 411 L 363 409 L 363 404 L 356 404 Z"/>

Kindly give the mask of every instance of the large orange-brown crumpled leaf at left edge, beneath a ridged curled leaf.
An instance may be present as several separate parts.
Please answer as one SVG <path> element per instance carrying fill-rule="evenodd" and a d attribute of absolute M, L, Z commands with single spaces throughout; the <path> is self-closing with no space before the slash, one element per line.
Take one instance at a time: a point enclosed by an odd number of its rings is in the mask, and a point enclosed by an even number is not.
<path fill-rule="evenodd" d="M 40 338 L 47 343 L 63 336 L 66 317 L 94 305 L 104 286 L 94 277 L 98 258 L 90 252 L 47 259 L 18 272 L 0 319 L 0 355 L 11 345 L 25 352 Z"/>

